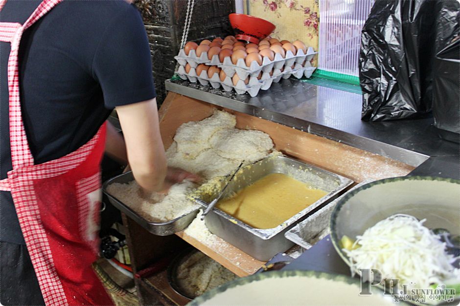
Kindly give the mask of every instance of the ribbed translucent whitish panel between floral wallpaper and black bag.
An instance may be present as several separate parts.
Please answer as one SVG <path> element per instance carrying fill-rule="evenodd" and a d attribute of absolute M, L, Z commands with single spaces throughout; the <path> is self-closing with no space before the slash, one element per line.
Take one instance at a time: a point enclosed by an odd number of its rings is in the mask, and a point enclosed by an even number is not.
<path fill-rule="evenodd" d="M 322 70 L 358 76 L 361 29 L 374 0 L 320 0 Z"/>

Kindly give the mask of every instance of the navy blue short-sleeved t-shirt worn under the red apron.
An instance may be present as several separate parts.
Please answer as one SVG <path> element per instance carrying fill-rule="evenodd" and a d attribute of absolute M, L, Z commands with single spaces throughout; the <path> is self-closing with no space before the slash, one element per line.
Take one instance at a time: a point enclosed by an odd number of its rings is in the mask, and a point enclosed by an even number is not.
<path fill-rule="evenodd" d="M 40 0 L 8 0 L 0 21 L 23 23 Z M 0 42 L 0 178 L 11 170 L 7 62 Z M 20 94 L 35 163 L 87 143 L 115 106 L 155 98 L 147 35 L 124 0 L 65 0 L 28 28 L 19 53 Z M 9 192 L 0 192 L 0 240 L 23 244 Z"/>

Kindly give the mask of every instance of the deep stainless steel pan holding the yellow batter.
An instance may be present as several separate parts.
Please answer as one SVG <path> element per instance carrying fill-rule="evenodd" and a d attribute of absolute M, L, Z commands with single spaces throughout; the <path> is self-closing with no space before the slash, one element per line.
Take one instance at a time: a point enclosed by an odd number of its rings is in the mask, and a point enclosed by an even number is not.
<path fill-rule="evenodd" d="M 221 237 L 260 261 L 268 261 L 275 254 L 284 252 L 293 246 L 294 243 L 287 240 L 284 237 L 284 233 L 295 223 L 303 220 L 311 211 L 334 199 L 341 190 L 353 183 L 353 181 L 345 177 L 288 157 L 268 157 L 241 168 L 235 179 L 227 187 L 224 198 L 270 173 L 287 174 L 296 180 L 308 183 L 312 187 L 322 189 L 328 193 L 284 223 L 269 229 L 254 228 L 218 208 L 214 208 L 209 212 L 205 223 L 211 233 Z M 200 188 L 198 190 L 200 191 Z M 215 188 L 211 192 L 207 190 L 199 194 L 199 196 L 194 196 L 194 200 L 196 203 L 206 207 L 207 203 L 219 191 L 219 188 Z"/>

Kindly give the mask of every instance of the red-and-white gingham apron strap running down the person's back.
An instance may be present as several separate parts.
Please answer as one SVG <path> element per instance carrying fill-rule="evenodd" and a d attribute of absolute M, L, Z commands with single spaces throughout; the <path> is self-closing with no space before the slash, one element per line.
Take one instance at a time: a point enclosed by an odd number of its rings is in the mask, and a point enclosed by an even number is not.
<path fill-rule="evenodd" d="M 27 142 L 23 115 L 21 112 L 18 69 L 19 44 L 24 30 L 43 17 L 61 1 L 62 0 L 43 0 L 22 26 L 18 26 L 18 23 L 13 25 L 9 22 L 2 22 L 0 24 L 0 33 L 2 33 L 2 37 L 5 39 L 4 41 L 11 42 L 11 51 L 8 59 L 8 90 L 11 162 L 13 164 L 13 170 L 34 164 L 33 156 Z M 0 9 L 5 3 L 6 0 L 1 0 Z M 12 33 L 13 30 L 14 33 Z"/>

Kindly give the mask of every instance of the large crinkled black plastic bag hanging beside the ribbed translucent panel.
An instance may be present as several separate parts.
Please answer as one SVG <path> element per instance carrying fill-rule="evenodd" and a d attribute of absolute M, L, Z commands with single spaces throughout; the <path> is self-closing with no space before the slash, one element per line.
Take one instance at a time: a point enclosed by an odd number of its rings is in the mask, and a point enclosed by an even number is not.
<path fill-rule="evenodd" d="M 415 118 L 431 111 L 437 2 L 374 3 L 361 35 L 363 120 Z"/>

